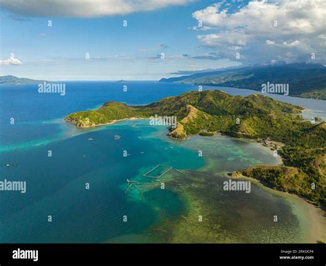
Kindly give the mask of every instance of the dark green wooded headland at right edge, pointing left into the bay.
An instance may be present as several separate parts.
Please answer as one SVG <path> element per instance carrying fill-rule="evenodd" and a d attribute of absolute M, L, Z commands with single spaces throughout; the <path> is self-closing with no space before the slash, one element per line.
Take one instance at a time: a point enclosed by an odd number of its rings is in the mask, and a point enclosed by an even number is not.
<path fill-rule="evenodd" d="M 281 148 L 285 166 L 254 166 L 242 174 L 278 190 L 326 203 L 326 123 L 297 134 Z"/>

